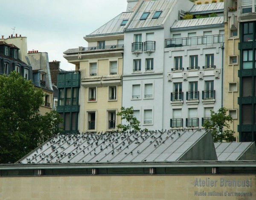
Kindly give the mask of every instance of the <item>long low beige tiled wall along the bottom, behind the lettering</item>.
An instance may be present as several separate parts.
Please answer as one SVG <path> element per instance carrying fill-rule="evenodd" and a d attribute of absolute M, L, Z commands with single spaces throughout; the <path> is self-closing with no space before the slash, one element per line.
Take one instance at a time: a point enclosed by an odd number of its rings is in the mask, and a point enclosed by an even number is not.
<path fill-rule="evenodd" d="M 195 186 L 199 179 L 216 186 Z M 220 179 L 252 180 L 250 187 L 220 186 Z M 215 182 L 216 181 L 216 182 Z M 223 196 L 208 196 L 208 192 Z M 204 192 L 206 196 L 197 196 Z M 251 196 L 235 197 L 236 192 Z M 202 193 L 203 194 L 203 193 Z M 229 194 L 231 196 L 229 196 Z M 151 176 L 64 176 L 0 177 L 3 200 L 255 200 L 255 175 L 151 175 Z"/>

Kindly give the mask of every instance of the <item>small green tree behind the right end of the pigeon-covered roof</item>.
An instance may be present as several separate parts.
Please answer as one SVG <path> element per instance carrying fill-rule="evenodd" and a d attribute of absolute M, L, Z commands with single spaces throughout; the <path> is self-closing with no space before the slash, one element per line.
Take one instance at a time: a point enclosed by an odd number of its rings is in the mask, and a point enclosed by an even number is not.
<path fill-rule="evenodd" d="M 204 122 L 204 128 L 211 130 L 213 142 L 232 142 L 235 137 L 233 130 L 230 130 L 229 122 L 232 122 L 232 117 L 226 115 L 227 109 L 221 107 L 217 113 L 211 110 L 211 118 Z"/>

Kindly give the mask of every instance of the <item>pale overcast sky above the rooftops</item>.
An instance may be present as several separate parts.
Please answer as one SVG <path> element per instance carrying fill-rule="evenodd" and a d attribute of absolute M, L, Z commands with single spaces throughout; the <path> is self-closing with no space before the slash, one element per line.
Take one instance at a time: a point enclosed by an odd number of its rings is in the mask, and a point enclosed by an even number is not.
<path fill-rule="evenodd" d="M 74 70 L 63 58 L 70 48 L 87 46 L 83 39 L 120 12 L 126 0 L 0 0 L 0 35 L 27 37 L 28 50 L 48 52 L 49 61 L 61 61 L 61 69 Z"/>

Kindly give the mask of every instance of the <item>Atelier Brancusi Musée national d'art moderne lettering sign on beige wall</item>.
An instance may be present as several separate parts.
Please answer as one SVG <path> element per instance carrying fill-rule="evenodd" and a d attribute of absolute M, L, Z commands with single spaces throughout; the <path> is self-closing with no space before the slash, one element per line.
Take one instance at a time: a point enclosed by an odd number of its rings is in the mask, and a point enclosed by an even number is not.
<path fill-rule="evenodd" d="M 192 181 L 194 197 L 224 200 L 256 200 L 256 176 L 203 176 Z"/>

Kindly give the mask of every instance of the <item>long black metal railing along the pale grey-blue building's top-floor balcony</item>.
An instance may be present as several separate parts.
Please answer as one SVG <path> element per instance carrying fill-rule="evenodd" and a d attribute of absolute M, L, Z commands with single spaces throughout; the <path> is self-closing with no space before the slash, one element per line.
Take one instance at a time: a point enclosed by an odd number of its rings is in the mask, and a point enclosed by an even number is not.
<path fill-rule="evenodd" d="M 166 48 L 179 46 L 193 46 L 200 44 L 224 43 L 224 34 L 166 39 L 165 41 Z"/>

